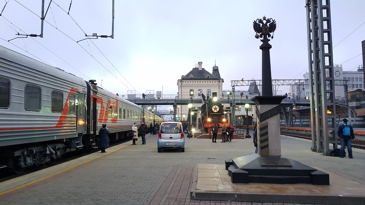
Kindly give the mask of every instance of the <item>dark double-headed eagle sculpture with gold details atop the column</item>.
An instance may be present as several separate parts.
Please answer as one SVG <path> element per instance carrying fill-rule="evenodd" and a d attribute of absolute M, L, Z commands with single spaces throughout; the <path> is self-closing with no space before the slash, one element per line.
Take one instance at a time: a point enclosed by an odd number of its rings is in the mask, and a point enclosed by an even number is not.
<path fill-rule="evenodd" d="M 256 32 L 255 38 L 274 38 L 275 29 L 276 21 L 272 18 L 266 18 L 264 16 L 262 17 L 262 19 L 256 19 L 253 22 L 253 30 Z M 271 35 L 270 33 L 273 33 L 273 35 Z"/>

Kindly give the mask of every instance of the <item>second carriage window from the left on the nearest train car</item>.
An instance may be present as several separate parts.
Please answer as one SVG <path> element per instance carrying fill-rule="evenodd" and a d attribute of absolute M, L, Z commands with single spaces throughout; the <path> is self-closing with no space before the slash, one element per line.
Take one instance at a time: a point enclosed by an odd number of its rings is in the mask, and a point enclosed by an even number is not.
<path fill-rule="evenodd" d="M 24 108 L 27 111 L 41 110 L 41 88 L 25 86 Z"/>

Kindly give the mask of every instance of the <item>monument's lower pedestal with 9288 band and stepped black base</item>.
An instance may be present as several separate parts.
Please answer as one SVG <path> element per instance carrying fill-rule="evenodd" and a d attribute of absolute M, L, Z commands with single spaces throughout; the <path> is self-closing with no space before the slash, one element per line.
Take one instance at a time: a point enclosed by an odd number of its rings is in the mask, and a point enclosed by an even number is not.
<path fill-rule="evenodd" d="M 233 183 L 311 183 L 329 185 L 327 173 L 281 157 L 280 112 L 285 96 L 256 96 L 258 154 L 226 160 Z"/>

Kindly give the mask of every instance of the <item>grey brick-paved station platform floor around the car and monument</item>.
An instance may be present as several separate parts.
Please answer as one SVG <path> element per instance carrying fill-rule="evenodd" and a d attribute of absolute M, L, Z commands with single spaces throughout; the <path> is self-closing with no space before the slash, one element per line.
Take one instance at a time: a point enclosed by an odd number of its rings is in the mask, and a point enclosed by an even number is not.
<path fill-rule="evenodd" d="M 192 201 L 194 167 L 223 164 L 225 159 L 252 154 L 252 138 L 234 139 L 230 143 L 185 139 L 185 152 L 161 153 L 157 152 L 157 135 L 147 135 L 146 142 L 141 145 L 138 140 L 135 146 L 122 144 L 114 152 L 110 148 L 106 154 L 94 153 L 101 156 L 5 193 L 0 196 L 0 204 L 237 204 Z M 310 151 L 310 142 L 285 136 L 281 137 L 281 144 L 283 157 L 365 182 L 364 153 L 354 151 L 354 159 L 323 156 Z"/>

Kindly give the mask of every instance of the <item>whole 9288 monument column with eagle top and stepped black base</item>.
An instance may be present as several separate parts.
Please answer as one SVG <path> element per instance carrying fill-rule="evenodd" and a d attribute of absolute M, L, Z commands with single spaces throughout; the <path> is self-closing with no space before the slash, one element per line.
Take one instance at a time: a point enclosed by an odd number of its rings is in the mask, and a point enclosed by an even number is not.
<path fill-rule="evenodd" d="M 329 185 L 329 175 L 313 167 L 281 157 L 280 113 L 285 96 L 273 96 L 270 39 L 276 29 L 273 19 L 257 19 L 253 23 L 256 38 L 262 38 L 262 96 L 251 100 L 256 105 L 258 154 L 226 160 L 226 169 L 233 183 L 312 183 Z M 289 119 L 290 121 L 290 119 Z"/>

